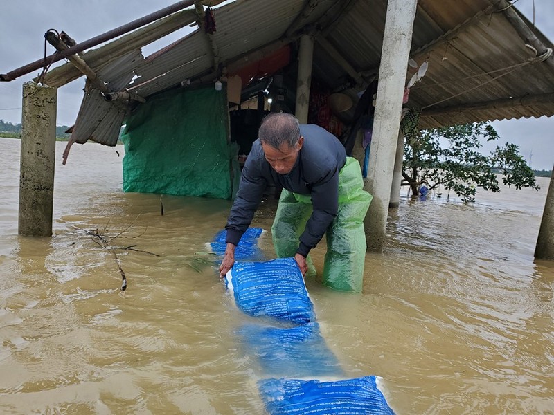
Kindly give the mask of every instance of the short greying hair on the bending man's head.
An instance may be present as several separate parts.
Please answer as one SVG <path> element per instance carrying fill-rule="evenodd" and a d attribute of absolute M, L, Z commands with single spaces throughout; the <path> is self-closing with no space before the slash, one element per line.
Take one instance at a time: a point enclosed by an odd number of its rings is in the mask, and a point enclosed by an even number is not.
<path fill-rule="evenodd" d="M 300 139 L 300 125 L 291 114 L 270 113 L 262 120 L 258 137 L 262 143 L 274 149 L 280 149 L 285 143 L 295 147 Z"/>

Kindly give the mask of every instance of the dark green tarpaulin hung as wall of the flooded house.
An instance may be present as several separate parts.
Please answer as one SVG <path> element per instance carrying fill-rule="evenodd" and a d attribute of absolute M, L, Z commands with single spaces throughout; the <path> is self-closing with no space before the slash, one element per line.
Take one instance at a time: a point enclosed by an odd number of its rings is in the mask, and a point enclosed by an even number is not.
<path fill-rule="evenodd" d="M 231 161 L 237 149 L 228 129 L 224 90 L 176 89 L 149 98 L 123 132 L 123 190 L 231 199 L 240 169 Z"/>

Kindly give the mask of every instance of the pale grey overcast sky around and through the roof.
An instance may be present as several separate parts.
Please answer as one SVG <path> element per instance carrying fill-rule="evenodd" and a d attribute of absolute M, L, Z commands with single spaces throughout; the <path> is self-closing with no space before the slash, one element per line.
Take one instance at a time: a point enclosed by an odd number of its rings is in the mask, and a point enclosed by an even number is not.
<path fill-rule="evenodd" d="M 0 12 L 0 73 L 7 73 L 20 66 L 44 57 L 44 33 L 50 28 L 64 30 L 77 42 L 83 42 L 139 17 L 170 6 L 177 0 L 2 0 Z M 516 3 L 533 21 L 533 0 Z M 554 41 L 554 0 L 535 0 L 535 24 Z M 174 33 L 157 44 L 147 46 L 148 55 L 161 46 L 184 35 L 184 30 Z M 48 45 L 48 55 L 53 53 Z M 57 66 L 59 62 L 53 66 Z M 12 82 L 0 82 L 0 119 L 17 124 L 21 122 L 21 85 L 38 75 L 35 71 Z M 84 78 L 80 78 L 58 90 L 57 124 L 72 125 L 75 122 Z M 500 143 L 513 142 L 533 169 L 552 169 L 554 164 L 554 117 L 529 120 L 493 122 L 501 137 Z M 492 149 L 492 148 L 491 148 Z"/>

